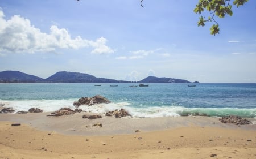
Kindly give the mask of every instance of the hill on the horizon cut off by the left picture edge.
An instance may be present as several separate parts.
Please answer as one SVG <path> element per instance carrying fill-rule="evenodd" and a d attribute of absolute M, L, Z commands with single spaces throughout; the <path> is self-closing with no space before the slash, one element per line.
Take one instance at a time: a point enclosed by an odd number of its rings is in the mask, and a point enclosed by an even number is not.
<path fill-rule="evenodd" d="M 18 82 L 43 82 L 44 79 L 37 76 L 28 75 L 19 71 L 2 71 L 0 72 L 1 83 L 18 83 Z"/>

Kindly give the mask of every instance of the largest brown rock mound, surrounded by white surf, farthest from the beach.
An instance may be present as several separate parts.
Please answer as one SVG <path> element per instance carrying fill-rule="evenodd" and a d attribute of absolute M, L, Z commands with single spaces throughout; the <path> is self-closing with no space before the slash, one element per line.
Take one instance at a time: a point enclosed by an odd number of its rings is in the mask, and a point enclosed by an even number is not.
<path fill-rule="evenodd" d="M 94 96 L 94 97 L 82 97 L 78 101 L 73 102 L 73 105 L 78 108 L 80 105 L 94 105 L 94 104 L 100 104 L 100 103 L 110 103 L 110 101 L 102 96 Z"/>

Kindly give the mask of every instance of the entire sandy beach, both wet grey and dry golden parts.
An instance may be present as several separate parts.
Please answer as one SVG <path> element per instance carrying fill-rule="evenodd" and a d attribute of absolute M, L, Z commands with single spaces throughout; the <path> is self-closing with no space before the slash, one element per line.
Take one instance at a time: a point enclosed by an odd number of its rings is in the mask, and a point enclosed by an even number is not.
<path fill-rule="evenodd" d="M 84 113 L 47 114 L 0 114 L 0 158 L 256 158 L 255 124 L 235 126 L 215 117 L 88 120 Z"/>

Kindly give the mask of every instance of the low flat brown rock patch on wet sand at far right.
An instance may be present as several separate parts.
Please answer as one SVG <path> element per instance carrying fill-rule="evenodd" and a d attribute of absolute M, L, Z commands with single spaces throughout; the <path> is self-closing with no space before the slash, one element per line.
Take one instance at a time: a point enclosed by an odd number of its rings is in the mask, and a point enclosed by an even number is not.
<path fill-rule="evenodd" d="M 222 117 L 219 120 L 222 123 L 233 123 L 236 125 L 251 124 L 251 122 L 248 121 L 247 119 L 234 116 L 234 115 L 229 115 L 228 117 Z"/>

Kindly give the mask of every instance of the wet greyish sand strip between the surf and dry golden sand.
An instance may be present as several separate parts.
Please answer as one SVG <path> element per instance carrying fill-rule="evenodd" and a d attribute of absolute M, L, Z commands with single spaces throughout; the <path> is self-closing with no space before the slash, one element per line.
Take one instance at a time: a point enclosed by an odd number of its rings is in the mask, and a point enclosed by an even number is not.
<path fill-rule="evenodd" d="M 253 124 L 235 125 L 221 123 L 218 117 L 187 116 L 187 117 L 155 117 L 155 118 L 115 118 L 103 114 L 99 119 L 85 119 L 82 115 L 96 113 L 75 113 L 60 117 L 47 117 L 50 113 L 0 114 L 0 121 L 28 124 L 41 131 L 55 131 L 63 135 L 122 135 L 142 132 L 162 131 L 179 127 L 220 127 L 245 130 L 256 130 L 255 118 L 250 118 Z M 248 118 L 247 118 L 248 119 Z M 93 126 L 102 124 L 102 127 Z"/>

